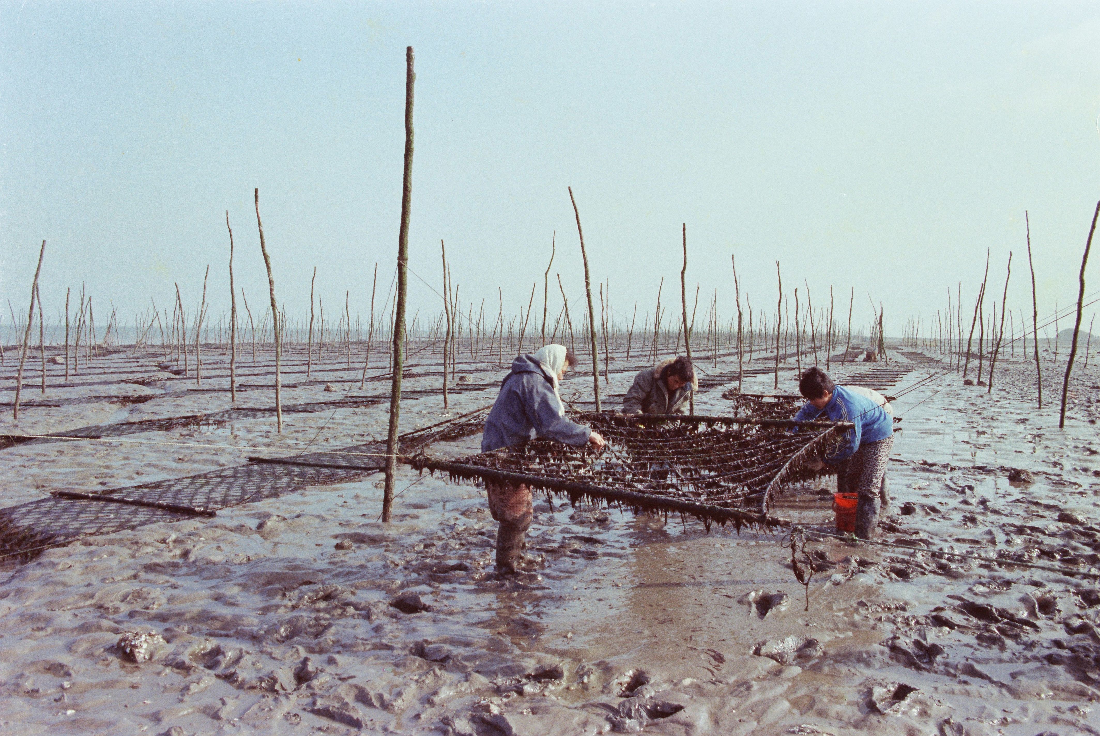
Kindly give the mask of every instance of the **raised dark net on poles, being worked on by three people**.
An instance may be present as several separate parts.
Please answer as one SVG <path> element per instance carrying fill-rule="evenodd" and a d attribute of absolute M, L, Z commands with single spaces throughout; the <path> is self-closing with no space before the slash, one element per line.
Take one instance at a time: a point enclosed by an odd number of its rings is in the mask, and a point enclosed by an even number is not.
<path fill-rule="evenodd" d="M 607 440 L 602 451 L 549 440 L 458 461 L 414 458 L 419 470 L 452 480 L 524 483 L 549 493 L 617 503 L 635 510 L 680 512 L 704 521 L 773 526 L 772 497 L 815 479 L 810 461 L 851 428 L 755 417 L 632 416 L 576 413 Z"/>

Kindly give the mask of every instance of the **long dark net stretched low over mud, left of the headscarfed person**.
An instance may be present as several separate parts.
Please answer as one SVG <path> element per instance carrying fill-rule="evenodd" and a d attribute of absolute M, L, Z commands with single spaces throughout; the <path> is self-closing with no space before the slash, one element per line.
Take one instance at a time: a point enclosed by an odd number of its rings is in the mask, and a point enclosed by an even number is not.
<path fill-rule="evenodd" d="M 481 431 L 488 407 L 403 435 L 399 452 Z M 55 492 L 0 509 L 0 559 L 32 557 L 76 539 L 156 523 L 211 516 L 219 509 L 294 493 L 306 486 L 346 483 L 378 472 L 385 442 L 288 458 L 252 458 L 246 465 L 154 481 L 95 494 Z"/>

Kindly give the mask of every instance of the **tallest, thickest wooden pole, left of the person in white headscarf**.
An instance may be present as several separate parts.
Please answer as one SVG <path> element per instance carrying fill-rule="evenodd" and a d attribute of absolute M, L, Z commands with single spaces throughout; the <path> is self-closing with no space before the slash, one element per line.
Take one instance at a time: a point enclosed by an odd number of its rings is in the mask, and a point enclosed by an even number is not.
<path fill-rule="evenodd" d="M 397 431 L 402 411 L 402 371 L 405 367 L 405 293 L 408 287 L 409 216 L 413 209 L 413 85 L 416 81 L 413 62 L 413 46 L 408 46 L 405 50 L 405 173 L 402 179 L 402 224 L 397 234 L 397 306 L 394 309 L 394 372 L 389 388 L 386 483 L 382 494 L 383 521 L 388 521 L 393 514 Z"/>

